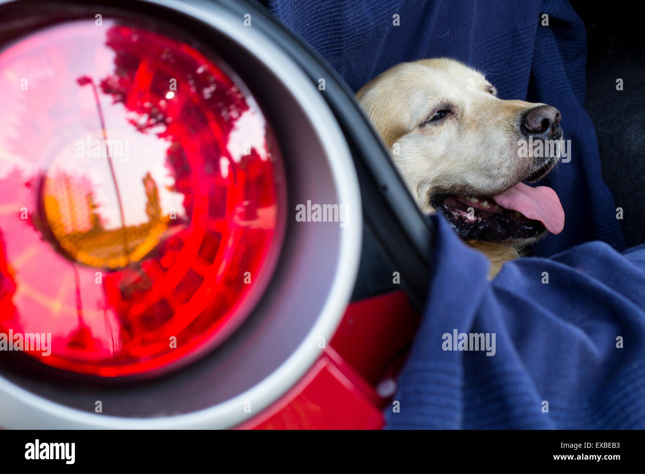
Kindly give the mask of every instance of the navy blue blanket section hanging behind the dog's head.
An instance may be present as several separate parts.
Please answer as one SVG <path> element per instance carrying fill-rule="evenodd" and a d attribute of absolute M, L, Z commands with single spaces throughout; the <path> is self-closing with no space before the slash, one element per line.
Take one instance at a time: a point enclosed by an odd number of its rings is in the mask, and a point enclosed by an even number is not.
<path fill-rule="evenodd" d="M 581 242 L 624 250 L 584 110 L 586 32 L 566 0 L 268 0 L 270 10 L 357 91 L 403 61 L 447 56 L 486 72 L 502 99 L 557 107 L 569 163 L 541 183 L 559 195 L 564 231 L 537 244 L 551 255 Z M 399 15 L 394 26 L 393 15 Z M 548 26 L 542 26 L 548 15 Z"/>

